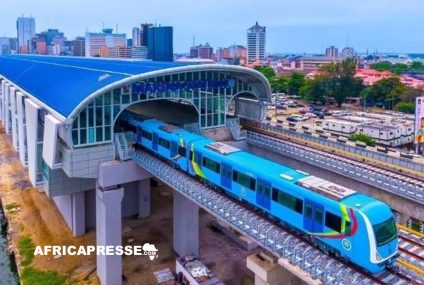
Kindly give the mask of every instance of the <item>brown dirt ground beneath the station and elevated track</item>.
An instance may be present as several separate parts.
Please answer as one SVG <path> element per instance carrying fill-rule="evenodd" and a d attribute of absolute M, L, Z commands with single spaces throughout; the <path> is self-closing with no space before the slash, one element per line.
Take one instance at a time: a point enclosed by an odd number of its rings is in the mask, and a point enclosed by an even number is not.
<path fill-rule="evenodd" d="M 168 192 L 163 197 L 160 193 Z M 73 237 L 54 202 L 42 190 L 32 188 L 26 169 L 22 167 L 0 128 L 0 197 L 3 206 L 16 203 L 16 211 L 7 212 L 10 238 L 15 251 L 20 237 L 29 236 L 35 245 L 95 245 L 95 229 L 81 237 Z M 159 258 L 147 256 L 123 258 L 124 284 L 157 284 L 153 272 L 165 268 L 175 270 L 172 249 L 172 190 L 152 188 L 152 213 L 147 219 L 123 220 L 123 245 L 154 243 Z M 200 258 L 227 285 L 253 284 L 254 275 L 246 268 L 248 252 L 229 237 L 212 230 L 214 218 L 200 211 Z M 20 256 L 17 255 L 19 264 Z M 100 284 L 96 276 L 95 256 L 36 256 L 31 264 L 41 270 L 53 270 L 68 277 L 71 284 Z M 19 265 L 18 265 L 18 268 Z M 22 270 L 22 268 L 20 268 Z"/>

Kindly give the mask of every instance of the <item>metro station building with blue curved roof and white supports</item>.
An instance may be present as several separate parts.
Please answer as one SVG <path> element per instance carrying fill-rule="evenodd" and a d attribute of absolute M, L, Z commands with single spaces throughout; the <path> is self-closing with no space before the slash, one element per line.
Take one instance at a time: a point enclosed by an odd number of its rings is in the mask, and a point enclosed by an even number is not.
<path fill-rule="evenodd" d="M 97 244 L 120 243 L 121 218 L 150 213 L 151 175 L 116 160 L 115 123 L 124 110 L 158 100 L 190 105 L 191 127 L 202 131 L 231 127 L 231 102 L 236 117 L 260 121 L 271 98 L 259 72 L 218 64 L 14 55 L 0 57 L 0 82 L 0 121 L 31 183 L 54 200 L 75 236 L 95 226 Z M 98 257 L 102 284 L 120 284 L 119 262 Z"/>

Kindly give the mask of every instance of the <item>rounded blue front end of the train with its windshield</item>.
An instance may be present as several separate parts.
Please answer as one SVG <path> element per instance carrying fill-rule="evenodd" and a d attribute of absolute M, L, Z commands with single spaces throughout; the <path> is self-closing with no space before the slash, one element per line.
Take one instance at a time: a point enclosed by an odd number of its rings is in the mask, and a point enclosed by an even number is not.
<path fill-rule="evenodd" d="M 394 265 L 399 255 L 398 235 L 390 208 L 362 194 L 347 197 L 341 203 L 352 209 L 358 225 L 354 240 L 361 242 L 349 245 L 355 263 L 371 273 Z"/>

